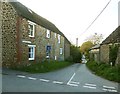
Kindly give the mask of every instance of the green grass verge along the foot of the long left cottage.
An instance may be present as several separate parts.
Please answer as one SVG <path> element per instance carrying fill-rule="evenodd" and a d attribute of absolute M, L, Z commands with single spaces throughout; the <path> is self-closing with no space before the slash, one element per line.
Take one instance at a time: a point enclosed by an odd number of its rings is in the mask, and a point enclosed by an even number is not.
<path fill-rule="evenodd" d="M 29 66 L 14 67 L 13 70 L 19 70 L 29 73 L 45 73 L 50 71 L 55 71 L 67 67 L 73 63 L 71 62 L 59 62 L 59 61 L 50 61 L 44 63 L 32 63 Z"/>

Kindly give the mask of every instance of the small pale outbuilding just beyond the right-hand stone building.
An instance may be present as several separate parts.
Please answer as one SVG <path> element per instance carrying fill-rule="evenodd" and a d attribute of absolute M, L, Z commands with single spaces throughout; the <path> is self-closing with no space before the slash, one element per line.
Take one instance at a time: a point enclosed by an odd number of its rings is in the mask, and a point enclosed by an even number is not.
<path fill-rule="evenodd" d="M 99 62 L 100 61 L 100 45 L 98 44 L 98 45 L 93 46 L 90 49 L 89 54 L 90 54 L 91 60 Z"/>

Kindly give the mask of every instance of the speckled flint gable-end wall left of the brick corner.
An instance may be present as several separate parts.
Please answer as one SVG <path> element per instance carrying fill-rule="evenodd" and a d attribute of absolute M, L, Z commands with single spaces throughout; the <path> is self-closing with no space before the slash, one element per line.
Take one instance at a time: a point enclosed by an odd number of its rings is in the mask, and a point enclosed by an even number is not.
<path fill-rule="evenodd" d="M 14 8 L 2 2 L 2 65 L 7 67 L 17 62 L 16 19 Z"/>

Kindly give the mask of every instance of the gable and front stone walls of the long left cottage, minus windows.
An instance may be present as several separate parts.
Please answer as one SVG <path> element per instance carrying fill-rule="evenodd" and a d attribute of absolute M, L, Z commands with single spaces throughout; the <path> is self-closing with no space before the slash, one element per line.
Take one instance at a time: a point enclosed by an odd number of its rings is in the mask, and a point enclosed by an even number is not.
<path fill-rule="evenodd" d="M 3 66 L 26 65 L 44 61 L 46 59 L 46 46 L 51 46 L 50 59 L 64 60 L 64 37 L 58 43 L 58 34 L 51 31 L 51 37 L 46 38 L 47 29 L 35 24 L 35 37 L 29 37 L 28 20 L 17 15 L 9 3 L 2 5 L 2 53 Z M 0 40 L 1 41 L 1 40 Z M 24 42 L 24 41 L 28 41 Z M 35 60 L 29 60 L 28 45 L 36 45 Z M 67 45 L 66 45 L 67 46 Z M 60 48 L 63 53 L 60 54 Z M 69 50 L 69 46 L 67 48 Z M 2 51 L 2 52 L 1 52 Z M 67 52 L 69 54 L 69 52 Z M 2 60 L 1 60 L 2 61 Z"/>

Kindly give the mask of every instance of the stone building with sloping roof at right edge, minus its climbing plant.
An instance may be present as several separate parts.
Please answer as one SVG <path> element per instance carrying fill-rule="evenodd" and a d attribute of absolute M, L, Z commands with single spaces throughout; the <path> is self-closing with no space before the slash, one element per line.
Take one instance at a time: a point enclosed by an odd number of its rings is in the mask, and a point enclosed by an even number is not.
<path fill-rule="evenodd" d="M 100 46 L 100 61 L 110 63 L 110 46 L 118 45 L 116 64 L 120 63 L 120 26 L 113 31 Z"/>

